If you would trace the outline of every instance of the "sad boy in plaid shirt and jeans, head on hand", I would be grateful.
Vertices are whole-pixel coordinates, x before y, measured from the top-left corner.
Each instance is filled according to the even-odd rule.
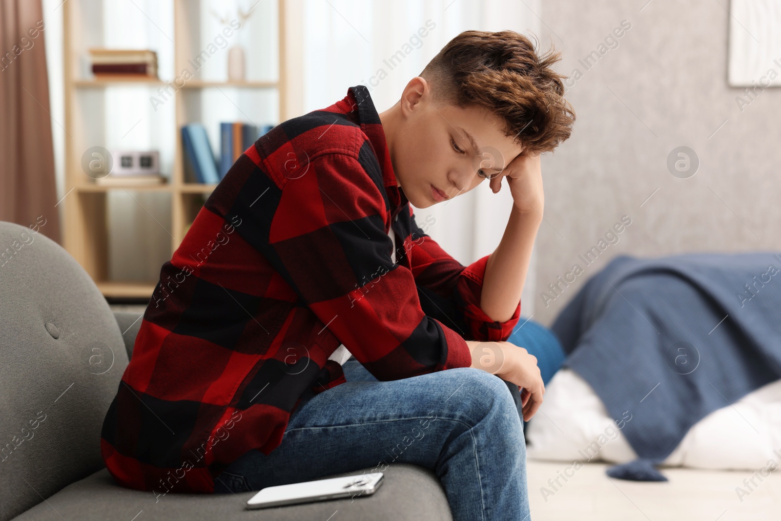
[[[455,519],[527,519],[519,409],[544,385],[506,340],[539,154],[574,121],[557,60],[465,31],[390,109],[357,85],[248,148],[162,266],[102,430],[119,484],[159,498],[412,462]],[[416,223],[412,206],[502,178],[514,205],[492,254],[462,266]],[[350,355],[378,381],[346,381]]]

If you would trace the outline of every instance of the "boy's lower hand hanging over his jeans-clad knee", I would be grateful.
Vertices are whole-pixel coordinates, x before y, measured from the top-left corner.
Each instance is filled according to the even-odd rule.
[[[537,357],[511,342],[466,341],[472,352],[472,365],[522,387],[521,405],[524,421],[529,421],[542,405],[545,385],[542,383]]]

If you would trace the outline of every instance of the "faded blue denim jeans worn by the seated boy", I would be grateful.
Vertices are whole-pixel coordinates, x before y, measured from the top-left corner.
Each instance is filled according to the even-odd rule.
[[[530,519],[513,384],[468,367],[380,382],[355,359],[345,362],[344,374],[345,384],[299,405],[269,455],[253,449],[231,463],[215,492],[403,462],[433,470],[456,521]]]

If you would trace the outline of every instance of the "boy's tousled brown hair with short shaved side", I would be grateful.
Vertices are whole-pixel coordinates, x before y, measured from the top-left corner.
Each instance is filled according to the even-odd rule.
[[[431,82],[435,102],[484,107],[505,121],[502,131],[524,152],[552,152],[575,123],[564,99],[565,76],[551,69],[560,58],[552,47],[538,55],[530,39],[513,30],[465,30],[420,76]]]

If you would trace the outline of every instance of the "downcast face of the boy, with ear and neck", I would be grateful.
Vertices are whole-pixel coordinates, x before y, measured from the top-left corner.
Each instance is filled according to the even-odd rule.
[[[499,116],[487,109],[432,102],[430,84],[415,77],[401,102],[381,114],[398,184],[415,208],[472,190],[486,180],[479,170],[483,176],[501,175],[521,152],[501,132]]]

